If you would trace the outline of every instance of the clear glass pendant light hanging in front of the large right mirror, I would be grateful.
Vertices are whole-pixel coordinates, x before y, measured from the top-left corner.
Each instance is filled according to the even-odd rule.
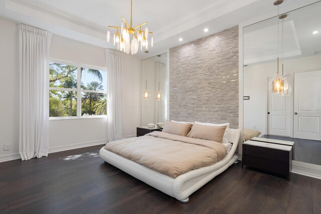
[[[283,3],[283,0],[277,0],[274,2],[274,5],[277,6],[277,16],[279,16],[279,5]],[[285,16],[286,17],[286,16]],[[285,18],[283,17],[283,18]],[[279,18],[279,19],[283,19]],[[282,26],[283,28],[283,26]],[[269,83],[269,91],[275,94],[282,95],[283,92],[288,91],[288,82],[282,76],[279,76],[279,22],[277,21],[277,72],[276,76]],[[283,45],[283,44],[282,44]],[[282,51],[283,54],[283,51]],[[282,58],[283,60],[283,58]]]

